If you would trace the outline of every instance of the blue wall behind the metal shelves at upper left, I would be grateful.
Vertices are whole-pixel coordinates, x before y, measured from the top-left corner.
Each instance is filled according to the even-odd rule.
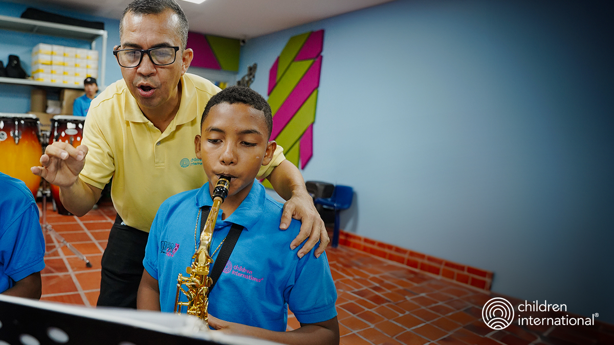
[[[52,6],[28,6],[25,4],[14,4],[10,2],[0,2],[0,15],[7,15],[10,17],[20,17],[21,13],[28,7],[35,7],[36,9],[46,10],[55,14],[66,15],[68,17],[79,18],[82,20],[90,21],[103,21],[104,29],[107,30],[107,56],[106,56],[106,83],[107,85],[122,78],[122,72],[115,61],[113,56],[113,46],[119,44],[119,20],[93,17],[91,15],[82,14],[79,12],[72,12],[60,7]],[[21,66],[31,75],[31,53],[34,45],[39,43],[47,44],[59,44],[69,47],[78,48],[91,48],[90,42],[66,39],[63,37],[46,36],[46,35],[34,35],[20,33],[17,31],[0,30],[0,60],[4,62],[6,66],[9,60],[9,55],[17,55],[20,57]],[[100,52],[102,39],[96,40],[96,49]],[[101,61],[101,60],[99,60]],[[102,86],[102,85],[99,85]],[[0,112],[15,112],[25,113],[30,110],[30,91],[32,87],[1,84],[0,83]],[[48,98],[53,99],[57,97],[57,94],[48,93]]]

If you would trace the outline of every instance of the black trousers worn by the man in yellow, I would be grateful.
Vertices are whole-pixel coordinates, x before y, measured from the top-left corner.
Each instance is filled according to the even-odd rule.
[[[101,262],[98,306],[136,309],[136,293],[143,275],[143,258],[149,234],[122,225],[119,215],[109,233]]]

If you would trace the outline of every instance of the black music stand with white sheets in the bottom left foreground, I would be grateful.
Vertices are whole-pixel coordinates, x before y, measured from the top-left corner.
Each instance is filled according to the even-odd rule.
[[[0,343],[273,345],[209,331],[193,316],[120,308],[86,308],[0,295]]]

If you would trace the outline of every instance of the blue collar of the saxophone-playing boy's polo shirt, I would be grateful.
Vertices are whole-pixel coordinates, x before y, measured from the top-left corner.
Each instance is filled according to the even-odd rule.
[[[241,202],[239,207],[233,212],[230,217],[225,220],[222,220],[222,210],[224,209],[224,204],[220,207],[220,212],[217,214],[216,225],[221,223],[235,223],[238,225],[243,225],[244,230],[249,230],[254,227],[255,223],[260,220],[260,216],[262,216],[262,205],[265,203],[265,187],[260,184],[258,181],[254,180],[254,184],[252,185],[252,189],[247,194],[246,198]],[[213,206],[213,200],[211,199],[211,195],[209,194],[209,182],[200,187],[198,193],[196,193],[196,207],[200,208],[203,206]],[[206,215],[205,215],[206,217]],[[217,226],[216,226],[217,228]]]

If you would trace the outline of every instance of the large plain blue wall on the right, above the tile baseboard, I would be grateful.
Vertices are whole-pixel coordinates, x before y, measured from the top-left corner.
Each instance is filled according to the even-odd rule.
[[[266,95],[287,40],[324,29],[303,176],[355,188],[342,228],[614,322],[612,18],[598,2],[400,0],[251,39],[238,76],[257,63]]]

